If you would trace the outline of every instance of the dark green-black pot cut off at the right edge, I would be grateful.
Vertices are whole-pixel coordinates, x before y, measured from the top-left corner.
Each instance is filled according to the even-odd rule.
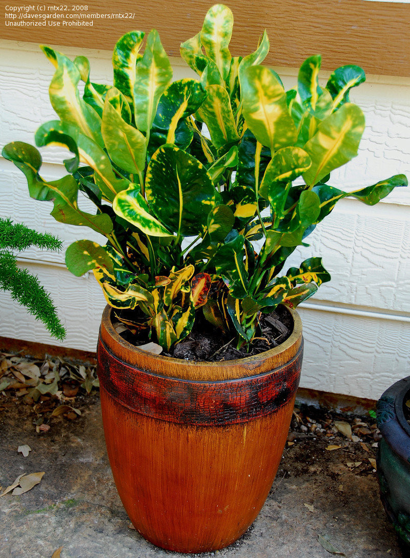
[[[410,550],[410,426],[405,406],[410,376],[389,387],[377,402],[377,425],[382,433],[377,474],[384,509],[399,537]]]

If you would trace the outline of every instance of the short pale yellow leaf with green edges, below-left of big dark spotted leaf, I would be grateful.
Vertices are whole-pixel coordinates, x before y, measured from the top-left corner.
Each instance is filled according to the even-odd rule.
[[[149,205],[137,184],[130,184],[115,196],[113,209],[119,216],[152,237],[169,237],[172,233],[150,213]]]

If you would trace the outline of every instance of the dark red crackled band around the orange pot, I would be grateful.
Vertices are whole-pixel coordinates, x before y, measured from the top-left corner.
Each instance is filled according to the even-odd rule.
[[[116,357],[99,340],[100,385],[141,415],[196,425],[248,422],[286,405],[299,385],[303,341],[287,364],[258,376],[218,382],[190,381],[138,369]]]

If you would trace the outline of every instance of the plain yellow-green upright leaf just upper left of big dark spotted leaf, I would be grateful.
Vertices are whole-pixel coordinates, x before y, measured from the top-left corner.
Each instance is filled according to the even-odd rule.
[[[123,120],[120,92],[115,87],[105,97],[101,132],[111,160],[124,171],[142,176],[146,157],[145,137]]]

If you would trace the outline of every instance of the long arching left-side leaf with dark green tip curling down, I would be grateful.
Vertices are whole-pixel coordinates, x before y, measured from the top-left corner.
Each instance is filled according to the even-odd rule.
[[[60,141],[56,134],[61,134]],[[113,172],[109,157],[105,151],[93,140],[80,133],[76,126],[59,121],[46,122],[36,132],[36,145],[61,145],[64,137],[73,138],[78,148],[80,160],[94,169],[95,184],[99,187],[105,199],[112,201],[118,192],[128,187],[129,181],[118,179]]]

